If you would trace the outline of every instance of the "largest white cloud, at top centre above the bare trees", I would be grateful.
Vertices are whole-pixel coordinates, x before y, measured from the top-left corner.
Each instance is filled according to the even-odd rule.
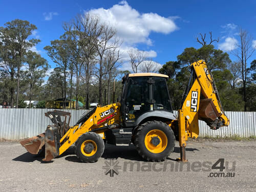
[[[167,18],[157,13],[139,13],[126,1],[109,9],[99,8],[88,11],[98,14],[103,22],[116,27],[117,35],[126,45],[143,43],[152,45],[151,32],[168,34],[178,29],[174,18]]]

